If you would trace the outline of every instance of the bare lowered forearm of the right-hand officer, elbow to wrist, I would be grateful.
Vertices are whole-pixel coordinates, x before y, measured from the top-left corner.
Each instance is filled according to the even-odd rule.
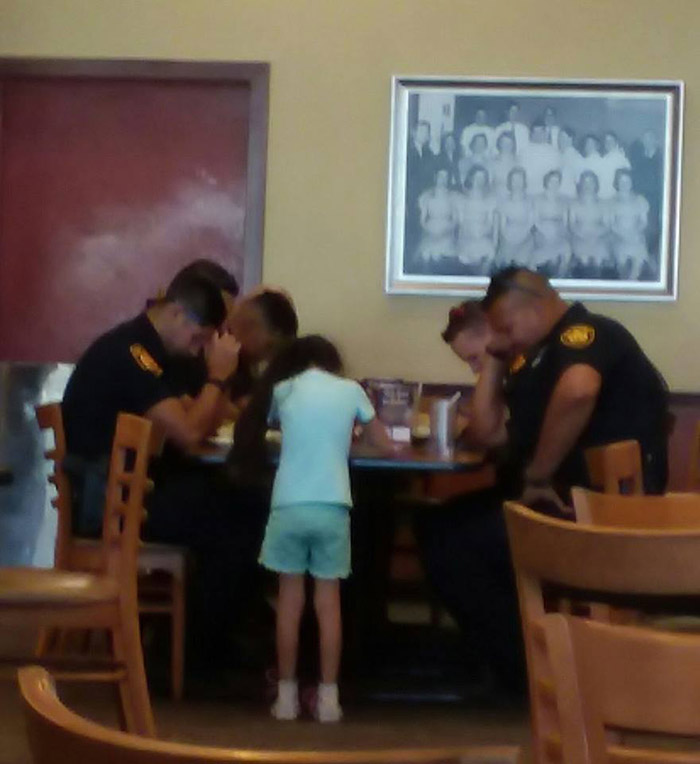
[[[576,445],[595,408],[594,395],[552,398],[532,461],[525,470],[526,481],[548,482]]]

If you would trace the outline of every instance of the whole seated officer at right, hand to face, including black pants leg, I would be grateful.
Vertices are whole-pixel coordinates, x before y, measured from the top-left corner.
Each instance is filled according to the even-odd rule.
[[[497,485],[426,513],[420,535],[438,594],[496,682],[522,690],[503,500],[570,517],[569,489],[588,483],[584,450],[626,439],[641,444],[646,489],[662,492],[667,391],[624,327],[581,304],[569,306],[539,274],[521,268],[496,274],[482,310],[481,320],[468,311],[468,325],[451,321],[445,339],[462,357],[469,339],[470,352],[483,354],[468,431],[472,443],[503,449]],[[458,325],[467,336],[455,344]]]

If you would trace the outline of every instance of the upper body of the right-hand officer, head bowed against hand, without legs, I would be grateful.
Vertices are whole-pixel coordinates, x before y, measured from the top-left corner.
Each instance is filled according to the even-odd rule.
[[[640,443],[645,489],[663,492],[667,387],[634,337],[522,268],[496,274],[482,307],[494,336],[473,434],[507,444],[521,500],[565,511],[568,489],[588,485],[585,449],[628,439]]]

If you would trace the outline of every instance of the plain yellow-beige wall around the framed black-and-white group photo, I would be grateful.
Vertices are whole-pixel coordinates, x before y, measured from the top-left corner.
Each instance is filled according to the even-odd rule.
[[[0,0],[0,55],[272,64],[264,277],[357,375],[468,379],[449,298],[383,293],[392,74],[686,82],[680,299],[596,304],[700,389],[700,0]]]

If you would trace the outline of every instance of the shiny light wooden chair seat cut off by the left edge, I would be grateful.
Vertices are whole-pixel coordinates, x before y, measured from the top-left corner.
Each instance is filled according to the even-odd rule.
[[[117,582],[52,568],[0,568],[0,606],[74,607],[116,601]]]

